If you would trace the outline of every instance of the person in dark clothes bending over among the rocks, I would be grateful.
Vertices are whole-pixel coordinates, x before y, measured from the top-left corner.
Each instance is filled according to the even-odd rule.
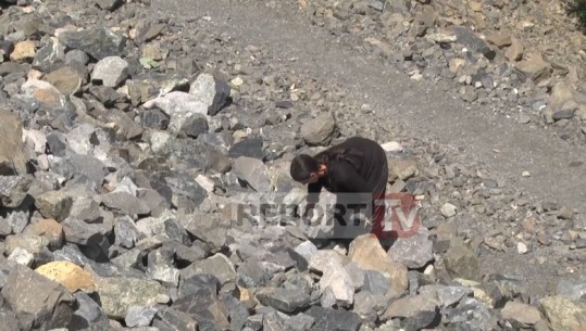
[[[322,189],[338,196],[352,196],[349,193],[358,193],[360,196],[370,198],[372,211],[370,232],[378,239],[382,238],[385,205],[377,204],[376,200],[384,201],[388,181],[388,163],[385,150],[376,141],[352,137],[314,156],[297,155],[290,164],[290,176],[294,180],[308,184],[308,206],[303,217],[307,217],[308,213],[314,208]],[[353,199],[350,198],[350,200]],[[350,203],[345,206],[348,211]],[[367,231],[367,225],[363,225],[364,230]],[[351,240],[352,238],[344,239]]]

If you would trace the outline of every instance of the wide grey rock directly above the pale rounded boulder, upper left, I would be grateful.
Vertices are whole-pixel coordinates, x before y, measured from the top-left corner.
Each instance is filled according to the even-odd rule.
[[[126,37],[105,26],[65,30],[60,33],[58,38],[67,48],[84,51],[98,61],[119,55],[126,42]]]

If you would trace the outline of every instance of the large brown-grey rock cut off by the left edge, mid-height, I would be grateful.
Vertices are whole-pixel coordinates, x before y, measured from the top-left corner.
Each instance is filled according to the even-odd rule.
[[[16,114],[0,106],[0,175],[25,175],[28,161],[22,140],[23,125]]]

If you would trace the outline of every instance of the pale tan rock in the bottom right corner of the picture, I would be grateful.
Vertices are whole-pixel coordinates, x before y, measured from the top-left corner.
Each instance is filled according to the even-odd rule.
[[[551,330],[573,331],[586,324],[586,304],[564,296],[546,296],[539,308]]]

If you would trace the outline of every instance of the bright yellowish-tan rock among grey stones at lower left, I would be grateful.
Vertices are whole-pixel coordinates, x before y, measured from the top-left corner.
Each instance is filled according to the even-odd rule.
[[[91,291],[93,289],[91,273],[68,260],[51,262],[39,266],[35,271],[59,282],[72,293],[77,290]]]

